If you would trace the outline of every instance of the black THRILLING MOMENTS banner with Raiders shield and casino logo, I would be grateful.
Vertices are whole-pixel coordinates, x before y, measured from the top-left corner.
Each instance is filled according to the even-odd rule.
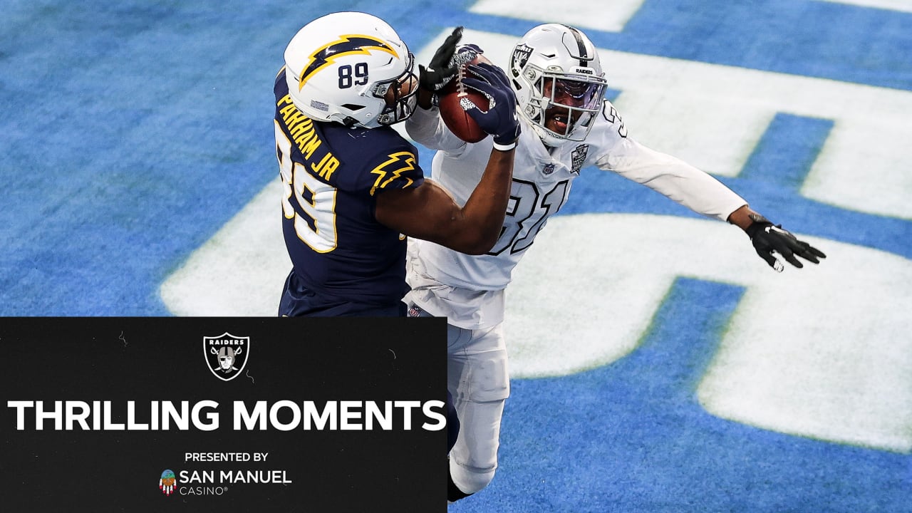
[[[445,319],[3,318],[4,511],[445,511]]]

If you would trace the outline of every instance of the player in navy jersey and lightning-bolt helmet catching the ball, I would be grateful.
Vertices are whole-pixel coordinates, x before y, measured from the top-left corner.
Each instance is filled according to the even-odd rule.
[[[494,144],[463,206],[425,179],[414,145],[390,128],[409,118],[420,87],[440,89],[455,75],[449,63],[460,38],[461,27],[420,77],[409,48],[376,16],[323,16],[289,42],[275,79],[275,149],[293,264],[279,315],[405,316],[407,236],[473,255],[497,240],[519,136],[503,71],[472,67],[464,80],[494,100],[487,112],[468,110]]]

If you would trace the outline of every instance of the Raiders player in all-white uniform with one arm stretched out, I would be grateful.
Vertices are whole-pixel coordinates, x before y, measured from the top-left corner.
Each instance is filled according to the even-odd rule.
[[[460,51],[457,58],[469,60],[481,50],[468,45]],[[514,47],[507,75],[523,130],[502,235],[482,256],[420,240],[409,244],[411,291],[403,299],[409,315],[449,319],[449,390],[461,421],[450,453],[450,501],[481,490],[494,476],[503,403],[510,393],[504,289],[548,216],[565,204],[582,168],[618,173],[697,213],[740,226],[757,254],[776,270],[782,270],[782,263],[775,254],[795,267],[802,267],[796,256],[815,264],[825,257],[752,211],[709,174],[628,137],[617,110],[603,99],[607,81],[596,47],[578,29],[534,27]],[[406,130],[438,151],[431,174],[461,204],[481,178],[492,141],[458,139],[433,107],[430,89],[420,90],[419,105]]]

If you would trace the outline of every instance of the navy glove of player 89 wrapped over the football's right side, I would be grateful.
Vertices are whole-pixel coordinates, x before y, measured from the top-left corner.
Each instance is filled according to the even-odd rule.
[[[471,99],[462,98],[462,110],[468,112],[483,131],[493,136],[494,144],[513,145],[519,139],[520,131],[516,118],[516,94],[503,69],[486,62],[470,64],[467,69],[472,77],[467,76],[462,83],[467,88],[480,91],[490,105],[487,111],[482,111]]]

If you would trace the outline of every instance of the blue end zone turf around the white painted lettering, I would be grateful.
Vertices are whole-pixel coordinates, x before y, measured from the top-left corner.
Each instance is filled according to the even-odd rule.
[[[456,24],[512,37],[535,25],[470,12],[471,5],[6,1],[0,315],[171,315],[159,296],[162,281],[277,176],[271,87],[295,31],[332,10],[363,10],[387,19],[419,50]],[[912,94],[909,12],[817,0],[646,0],[623,30],[586,33],[598,47],[630,54]],[[865,106],[846,105],[855,108]],[[834,120],[777,112],[741,172],[720,179],[769,205],[765,212],[793,231],[875,248],[908,267],[909,215],[802,193],[839,128]],[[430,153],[421,159],[430,162]],[[908,174],[907,162],[857,173],[872,180]],[[912,197],[912,188],[893,192]],[[600,173],[576,181],[561,215],[584,213],[689,216]],[[756,258],[748,246],[743,257]],[[912,511],[907,450],[761,430],[708,414],[695,401],[742,293],[679,278],[627,358],[570,376],[515,380],[502,470],[489,489],[451,510]],[[912,368],[896,375],[897,387],[912,389]],[[906,439],[910,410],[905,404],[897,413],[910,419]]]

